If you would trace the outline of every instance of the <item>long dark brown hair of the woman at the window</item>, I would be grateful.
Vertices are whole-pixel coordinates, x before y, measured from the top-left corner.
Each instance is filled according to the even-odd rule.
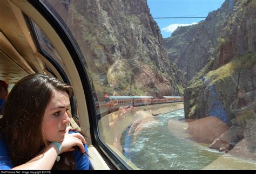
[[[19,80],[4,105],[0,133],[5,141],[12,164],[28,162],[48,146],[42,122],[53,91],[64,91],[71,98],[70,85],[44,74],[31,74]],[[72,152],[65,152],[52,169],[75,169]]]

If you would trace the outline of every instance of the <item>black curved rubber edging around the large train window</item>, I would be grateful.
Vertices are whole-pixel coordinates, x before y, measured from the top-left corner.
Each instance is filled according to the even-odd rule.
[[[132,169],[124,160],[119,157],[116,152],[108,148],[98,135],[98,125],[97,125],[97,114],[95,101],[93,100],[92,89],[88,75],[86,73],[85,66],[83,65],[82,54],[77,47],[76,40],[64,29],[62,23],[59,22],[59,19],[53,15],[49,9],[39,1],[28,0],[28,2],[47,20],[47,22],[52,26],[52,28],[57,32],[60,39],[63,41],[66,49],[69,51],[71,58],[77,68],[80,80],[83,86],[83,92],[85,95],[87,112],[89,114],[90,122],[90,134],[92,145],[97,149],[99,154],[103,157],[106,164],[110,169],[116,170],[127,170]]]

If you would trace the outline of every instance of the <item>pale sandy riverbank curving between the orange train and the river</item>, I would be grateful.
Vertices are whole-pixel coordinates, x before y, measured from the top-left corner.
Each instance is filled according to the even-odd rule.
[[[110,144],[120,152],[123,152],[120,145],[120,138],[123,132],[131,126],[134,121],[143,117],[143,115],[136,114],[137,111],[146,110],[152,115],[159,115],[183,108],[183,102],[176,102],[118,110],[117,112],[103,116],[99,120],[98,125],[100,137],[103,138],[106,144]]]

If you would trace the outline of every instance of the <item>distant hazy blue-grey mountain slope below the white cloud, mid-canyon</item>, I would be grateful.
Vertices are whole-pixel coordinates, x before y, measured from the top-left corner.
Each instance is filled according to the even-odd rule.
[[[196,25],[178,27],[170,38],[164,39],[169,59],[184,73],[186,82],[205,66],[212,55],[218,38],[213,31],[220,31],[221,27],[215,29],[214,21],[205,20]]]

